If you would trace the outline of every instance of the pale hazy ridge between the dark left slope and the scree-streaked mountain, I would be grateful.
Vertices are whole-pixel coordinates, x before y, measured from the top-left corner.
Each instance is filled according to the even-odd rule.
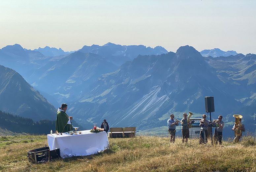
[[[117,66],[97,54],[77,51],[35,69],[28,82],[39,90],[55,94],[62,101],[63,98],[75,99],[81,92],[89,91],[88,83],[116,69]]]

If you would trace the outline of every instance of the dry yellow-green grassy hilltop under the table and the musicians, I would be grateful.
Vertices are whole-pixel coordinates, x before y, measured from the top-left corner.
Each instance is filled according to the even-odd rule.
[[[27,151],[47,144],[45,135],[0,137],[0,171],[256,171],[256,142],[199,145],[175,144],[168,137],[110,138],[110,150],[97,155],[32,164]]]

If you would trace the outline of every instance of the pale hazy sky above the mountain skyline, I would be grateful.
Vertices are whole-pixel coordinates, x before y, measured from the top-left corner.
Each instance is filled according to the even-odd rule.
[[[31,0],[0,2],[0,48],[182,45],[256,54],[255,0]]]

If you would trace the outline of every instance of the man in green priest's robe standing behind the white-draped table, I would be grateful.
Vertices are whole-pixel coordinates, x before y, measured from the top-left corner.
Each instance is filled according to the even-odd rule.
[[[59,133],[65,133],[72,130],[72,124],[70,120],[72,120],[73,117],[67,115],[66,113],[67,109],[68,109],[68,105],[62,104],[57,111],[55,131],[58,131]]]

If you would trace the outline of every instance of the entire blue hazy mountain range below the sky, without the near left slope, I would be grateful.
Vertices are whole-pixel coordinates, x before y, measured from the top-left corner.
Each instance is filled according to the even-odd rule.
[[[214,96],[214,119],[223,115],[228,127],[232,115],[240,113],[255,130],[254,54],[198,52],[188,45],[174,53],[160,46],[112,43],[54,57],[42,53],[7,46],[0,50],[0,64],[20,71],[55,107],[67,103],[68,114],[85,127],[103,119],[111,127],[162,127],[170,113],[181,118],[192,111],[193,117],[201,117],[204,97]]]

